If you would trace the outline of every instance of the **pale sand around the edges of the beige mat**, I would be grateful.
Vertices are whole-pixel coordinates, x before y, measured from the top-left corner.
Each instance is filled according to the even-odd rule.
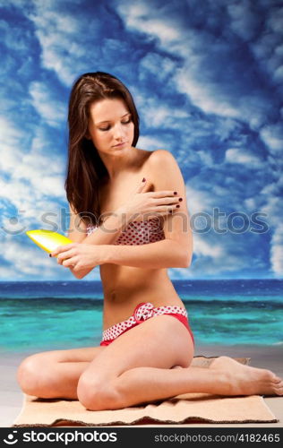
[[[23,395],[16,381],[17,366],[21,360],[31,353],[12,353],[0,352],[0,426],[10,427],[13,420],[18,416],[22,406]],[[272,347],[261,346],[201,346],[196,347],[195,356],[214,357],[227,355],[234,358],[251,358],[250,366],[269,368],[277,375],[283,377],[283,345]],[[230,424],[230,425],[213,425],[213,424],[189,424],[183,426],[193,427],[283,427],[283,397],[270,397],[264,399],[275,417],[279,419],[277,423],[264,424]],[[175,425],[159,425],[159,426],[175,426]]]

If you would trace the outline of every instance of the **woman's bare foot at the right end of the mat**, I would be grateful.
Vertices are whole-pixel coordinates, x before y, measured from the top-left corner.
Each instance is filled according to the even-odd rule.
[[[283,380],[270,370],[244,366],[228,357],[214,359],[210,369],[227,373],[227,393],[225,394],[283,396]]]

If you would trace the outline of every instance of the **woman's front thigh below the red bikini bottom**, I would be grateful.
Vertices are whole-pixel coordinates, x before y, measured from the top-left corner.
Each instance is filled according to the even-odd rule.
[[[158,315],[124,332],[90,363],[84,375],[116,377],[134,367],[188,367],[193,359],[190,333],[175,317]]]

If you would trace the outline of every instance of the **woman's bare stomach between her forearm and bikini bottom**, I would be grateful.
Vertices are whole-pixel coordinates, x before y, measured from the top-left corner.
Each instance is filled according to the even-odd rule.
[[[102,264],[100,275],[104,292],[103,330],[128,319],[141,302],[184,306],[166,269]]]

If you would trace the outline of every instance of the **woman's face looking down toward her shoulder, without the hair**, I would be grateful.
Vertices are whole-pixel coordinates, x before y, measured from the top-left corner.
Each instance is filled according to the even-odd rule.
[[[101,99],[90,105],[90,138],[98,151],[119,155],[132,147],[134,125],[123,99]]]

